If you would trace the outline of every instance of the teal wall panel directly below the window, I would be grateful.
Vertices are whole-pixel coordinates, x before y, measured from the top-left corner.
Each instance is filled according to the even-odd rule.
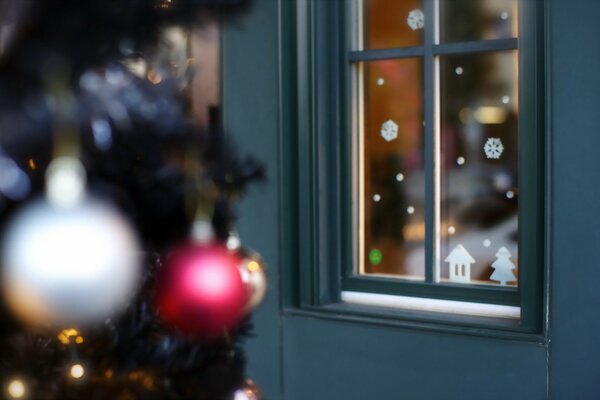
[[[544,399],[542,345],[284,318],[286,400]]]

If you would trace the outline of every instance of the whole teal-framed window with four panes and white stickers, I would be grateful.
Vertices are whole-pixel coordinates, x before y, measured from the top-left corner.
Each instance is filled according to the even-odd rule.
[[[300,306],[408,305],[539,332],[541,7],[298,2],[297,113],[283,120],[298,138],[283,145],[300,177],[284,196],[298,195]]]

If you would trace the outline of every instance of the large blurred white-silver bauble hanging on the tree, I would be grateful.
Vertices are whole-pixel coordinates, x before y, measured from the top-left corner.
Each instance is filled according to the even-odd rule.
[[[124,308],[139,280],[130,225],[84,191],[72,158],[47,170],[46,198],[14,216],[2,244],[2,292],[8,307],[34,326],[100,322]]]

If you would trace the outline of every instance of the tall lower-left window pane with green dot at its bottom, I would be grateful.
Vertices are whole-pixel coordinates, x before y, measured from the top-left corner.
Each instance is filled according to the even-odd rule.
[[[423,61],[361,64],[363,268],[424,276]]]

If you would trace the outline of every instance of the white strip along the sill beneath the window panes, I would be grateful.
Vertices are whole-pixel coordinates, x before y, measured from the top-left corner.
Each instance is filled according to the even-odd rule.
[[[498,304],[471,303],[468,301],[427,299],[422,297],[389,294],[342,292],[344,303],[391,307],[412,311],[430,311],[447,314],[474,315],[492,318],[521,318],[521,308]]]

